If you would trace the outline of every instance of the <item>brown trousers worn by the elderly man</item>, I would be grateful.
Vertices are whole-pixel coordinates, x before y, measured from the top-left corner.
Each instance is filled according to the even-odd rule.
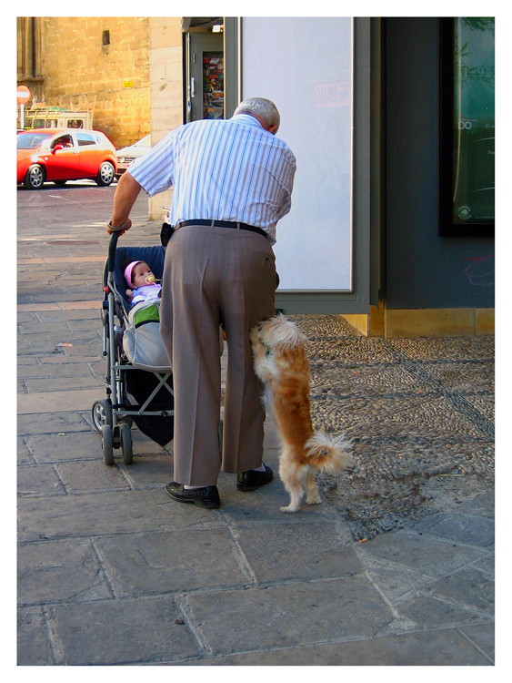
[[[249,330],[275,314],[276,260],[270,241],[247,230],[186,226],[166,248],[160,331],[173,368],[174,479],[216,484],[262,462],[263,384],[253,370]],[[222,461],[219,326],[227,376]]]

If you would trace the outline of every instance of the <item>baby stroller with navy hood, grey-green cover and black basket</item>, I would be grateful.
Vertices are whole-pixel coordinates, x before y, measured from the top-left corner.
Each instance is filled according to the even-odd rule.
[[[92,418],[101,434],[103,461],[114,463],[121,448],[123,462],[133,462],[133,423],[165,446],[174,436],[172,370],[159,332],[159,300],[130,306],[121,265],[144,260],[156,279],[162,278],[165,250],[158,247],[117,247],[113,233],[104,270],[102,305],[106,398],[95,401]],[[115,320],[118,324],[115,324]]]

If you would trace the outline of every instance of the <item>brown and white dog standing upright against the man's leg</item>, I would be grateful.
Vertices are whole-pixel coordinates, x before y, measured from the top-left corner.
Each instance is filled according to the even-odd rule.
[[[315,474],[338,474],[355,465],[352,442],[313,430],[309,403],[306,336],[295,322],[279,314],[250,331],[256,375],[264,382],[266,409],[281,438],[279,476],[290,494],[281,512],[296,513],[306,490],[306,503],[321,503]]]

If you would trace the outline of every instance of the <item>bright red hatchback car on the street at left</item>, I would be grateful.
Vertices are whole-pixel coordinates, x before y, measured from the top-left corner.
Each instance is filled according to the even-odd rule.
[[[17,182],[39,189],[46,180],[64,185],[66,180],[92,178],[110,185],[117,170],[115,147],[98,130],[41,128],[16,136]]]

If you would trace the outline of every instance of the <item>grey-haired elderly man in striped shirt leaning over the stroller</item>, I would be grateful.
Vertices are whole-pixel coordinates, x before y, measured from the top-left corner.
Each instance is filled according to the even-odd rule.
[[[291,207],[296,159],[276,138],[274,103],[255,97],[230,119],[177,127],[119,180],[107,232],[131,227],[140,189],[174,188],[160,331],[175,389],[176,501],[219,507],[219,469],[239,491],[268,484],[263,385],[249,330],[275,313],[276,223]],[[222,454],[219,326],[228,348]]]

